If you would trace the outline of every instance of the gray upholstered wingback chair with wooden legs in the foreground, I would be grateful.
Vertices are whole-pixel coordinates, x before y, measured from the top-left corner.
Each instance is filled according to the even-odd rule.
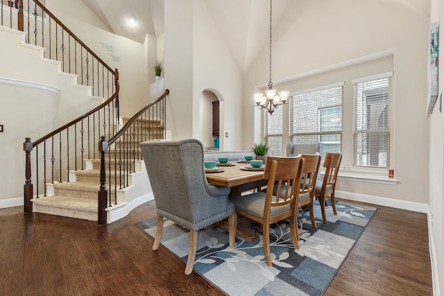
[[[140,143],[157,207],[153,250],[162,238],[163,217],[190,230],[185,274],[193,271],[198,231],[229,217],[230,247],[236,238],[237,214],[229,188],[210,185],[203,166],[203,146],[196,139]]]

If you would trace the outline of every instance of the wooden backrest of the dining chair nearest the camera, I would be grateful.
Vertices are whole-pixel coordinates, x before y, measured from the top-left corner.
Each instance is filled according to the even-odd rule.
[[[300,182],[300,176],[305,160],[302,157],[266,157],[264,179],[268,180],[266,189],[266,205],[278,207],[292,202],[299,192],[291,183]],[[273,189],[277,186],[276,195]],[[268,207],[268,210],[270,207]],[[265,211],[267,207],[265,207]],[[265,215],[264,215],[265,216]]]

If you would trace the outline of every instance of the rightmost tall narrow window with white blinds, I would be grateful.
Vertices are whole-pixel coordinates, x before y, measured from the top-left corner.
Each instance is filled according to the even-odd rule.
[[[354,165],[388,168],[391,73],[352,82],[355,87]]]

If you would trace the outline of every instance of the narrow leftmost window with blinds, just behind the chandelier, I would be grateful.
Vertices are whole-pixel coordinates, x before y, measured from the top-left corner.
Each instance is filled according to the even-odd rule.
[[[282,155],[282,109],[282,106],[278,107],[273,115],[266,113],[265,141],[270,147],[267,153],[270,156]]]

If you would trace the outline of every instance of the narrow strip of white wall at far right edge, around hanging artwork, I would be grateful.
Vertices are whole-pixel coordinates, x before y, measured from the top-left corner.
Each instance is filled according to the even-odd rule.
[[[443,26],[444,24],[444,4],[443,1],[432,0],[431,22],[438,21],[441,24],[439,32],[439,42],[444,40]],[[441,45],[441,57],[443,46]],[[438,64],[438,94],[442,94],[444,88],[444,62],[443,58]],[[425,97],[427,100],[427,96]],[[439,110],[441,99],[438,98],[436,106],[431,116],[429,116],[430,126],[430,142],[429,142],[429,237],[432,256],[432,268],[434,273],[434,295],[440,295],[440,291],[444,291],[444,116]]]

